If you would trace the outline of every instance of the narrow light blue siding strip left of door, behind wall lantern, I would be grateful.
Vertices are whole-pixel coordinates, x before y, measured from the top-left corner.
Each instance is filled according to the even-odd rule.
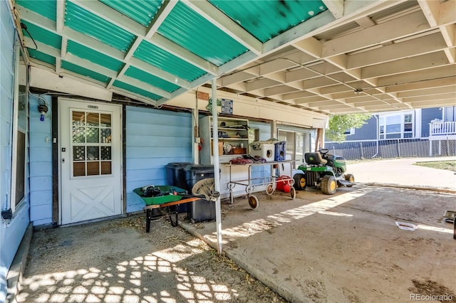
[[[52,108],[51,97],[46,100],[48,113],[40,121],[38,98],[30,102],[30,220],[33,225],[52,223]],[[46,140],[46,137],[48,140]]]

